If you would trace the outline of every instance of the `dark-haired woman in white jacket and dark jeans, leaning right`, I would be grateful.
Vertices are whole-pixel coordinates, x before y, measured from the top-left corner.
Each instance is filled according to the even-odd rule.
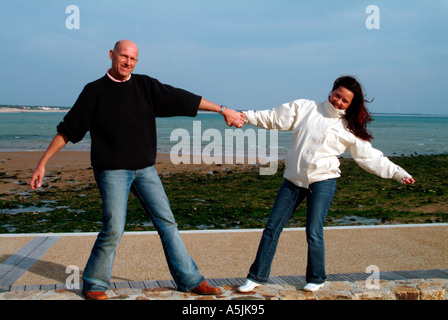
[[[337,157],[346,150],[370,173],[403,184],[415,182],[405,170],[372,148],[372,136],[366,129],[372,118],[366,102],[359,82],[343,76],[334,82],[326,102],[296,100],[273,110],[243,112],[249,124],[292,131],[292,148],[286,157],[285,179],[246,283],[238,288],[240,292],[251,291],[268,281],[280,233],[305,197],[308,259],[304,290],[316,291],[324,286],[323,224],[336,191],[336,179],[340,177]]]

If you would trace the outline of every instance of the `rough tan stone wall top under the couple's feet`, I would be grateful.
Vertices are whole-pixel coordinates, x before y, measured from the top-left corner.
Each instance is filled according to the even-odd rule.
[[[381,280],[378,289],[365,281],[328,281],[317,292],[303,291],[304,283],[295,285],[264,285],[248,293],[238,293],[238,286],[223,285],[222,295],[200,296],[174,288],[108,290],[109,299],[116,300],[448,300],[448,279]],[[9,291],[0,293],[0,300],[78,300],[79,290]]]

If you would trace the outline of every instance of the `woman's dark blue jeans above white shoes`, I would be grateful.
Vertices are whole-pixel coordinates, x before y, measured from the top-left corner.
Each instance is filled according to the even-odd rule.
[[[313,183],[309,189],[298,187],[285,179],[275,198],[255,261],[250,267],[247,278],[260,283],[268,281],[280,233],[292,213],[306,197],[306,239],[308,243],[306,282],[316,284],[325,282],[323,226],[335,192],[336,179]]]

